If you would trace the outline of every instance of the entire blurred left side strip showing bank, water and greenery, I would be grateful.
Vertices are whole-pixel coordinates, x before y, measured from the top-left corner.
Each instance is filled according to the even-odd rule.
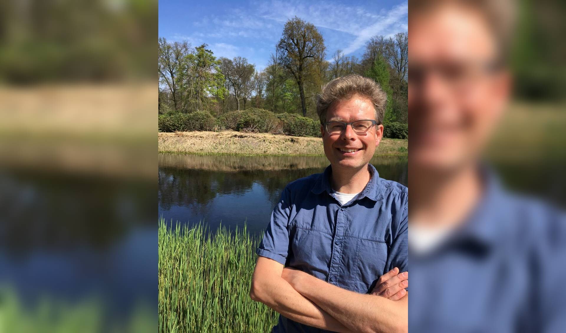
[[[0,332],[157,327],[157,2],[0,3]]]

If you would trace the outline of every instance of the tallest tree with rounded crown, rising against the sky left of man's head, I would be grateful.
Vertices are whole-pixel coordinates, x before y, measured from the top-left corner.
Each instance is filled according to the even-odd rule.
[[[301,96],[303,116],[307,114],[305,82],[316,66],[316,58],[324,54],[324,39],[312,23],[295,16],[285,23],[281,39],[277,44],[278,61],[295,79]]]

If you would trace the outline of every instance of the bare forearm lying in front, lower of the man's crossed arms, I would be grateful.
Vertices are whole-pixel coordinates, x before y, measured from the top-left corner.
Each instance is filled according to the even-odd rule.
[[[304,274],[294,288],[356,332],[408,331],[408,296],[399,301],[359,294]]]

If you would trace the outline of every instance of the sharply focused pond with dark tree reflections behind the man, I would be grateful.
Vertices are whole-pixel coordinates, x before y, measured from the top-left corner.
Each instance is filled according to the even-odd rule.
[[[407,184],[406,156],[376,156],[379,176]],[[243,227],[259,234],[289,182],[323,172],[326,157],[159,155],[159,216],[173,224]]]

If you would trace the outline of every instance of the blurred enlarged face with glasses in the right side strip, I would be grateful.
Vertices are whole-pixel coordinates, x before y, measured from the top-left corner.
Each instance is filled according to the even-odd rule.
[[[444,7],[410,18],[409,151],[421,169],[475,163],[509,93],[477,13]]]

